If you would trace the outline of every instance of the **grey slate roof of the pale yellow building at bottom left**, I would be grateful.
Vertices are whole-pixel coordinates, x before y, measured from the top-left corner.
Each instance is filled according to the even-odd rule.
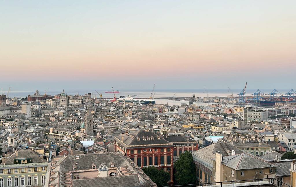
[[[12,154],[10,157],[5,160],[5,164],[14,164],[15,159],[21,159],[21,158],[33,158],[32,163],[41,163],[46,162],[46,160],[39,157],[39,154],[35,151],[32,151],[31,149],[20,149],[14,154]],[[2,162],[0,165],[4,165],[4,162]]]

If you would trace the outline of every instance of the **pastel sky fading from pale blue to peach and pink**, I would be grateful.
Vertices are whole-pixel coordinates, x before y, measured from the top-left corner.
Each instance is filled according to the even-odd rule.
[[[0,0],[0,84],[296,89],[295,8],[294,0]]]

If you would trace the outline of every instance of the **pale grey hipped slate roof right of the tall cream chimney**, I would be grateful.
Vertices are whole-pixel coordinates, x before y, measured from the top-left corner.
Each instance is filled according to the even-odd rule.
[[[216,160],[212,158],[212,160]],[[226,165],[229,168],[234,170],[248,170],[248,169],[257,169],[257,168],[269,168],[277,167],[272,163],[266,162],[262,158],[256,157],[254,155],[243,152],[238,155],[230,155],[224,157],[223,165]]]

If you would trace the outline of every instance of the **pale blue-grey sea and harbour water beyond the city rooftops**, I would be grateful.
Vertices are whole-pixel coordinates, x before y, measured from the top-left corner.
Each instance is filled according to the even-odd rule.
[[[9,92],[9,97],[26,97],[28,95],[34,95],[36,90],[13,90],[11,89]],[[106,91],[111,90],[97,90],[99,93],[102,93],[103,98],[112,98],[113,94],[107,94]],[[242,90],[229,90],[229,89],[212,89],[212,90],[203,90],[203,89],[171,89],[171,90],[162,90],[162,89],[155,89],[153,94],[155,98],[155,102],[157,104],[168,104],[168,105],[181,105],[181,103],[189,104],[189,100],[168,100],[168,99],[158,99],[160,97],[191,97],[193,94],[195,97],[207,97],[207,94],[209,97],[226,97],[229,95],[237,96],[239,92]],[[254,93],[256,90],[246,90],[246,96],[252,96],[252,93]],[[270,93],[272,90],[261,90],[263,93]],[[287,93],[289,90],[278,90],[281,93]],[[47,95],[57,95],[61,93],[62,90],[53,90],[49,89],[47,90]],[[125,96],[128,97],[129,95],[136,95],[135,97],[150,97],[152,90],[120,90],[119,94],[115,94],[116,97]],[[65,90],[65,93],[67,95],[84,95],[86,93],[91,93],[91,97],[99,97],[99,94],[95,90],[79,90],[79,89],[73,89],[73,90]],[[3,91],[3,94],[7,94],[7,91]],[[45,94],[45,90],[39,90],[40,95]],[[207,106],[210,105],[210,103],[201,103],[201,102],[195,102],[194,104],[199,106]]]

